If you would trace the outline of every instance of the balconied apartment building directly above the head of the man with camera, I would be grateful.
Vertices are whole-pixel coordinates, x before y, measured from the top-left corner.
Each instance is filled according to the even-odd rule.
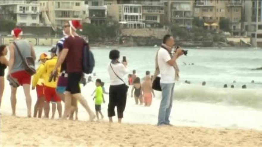
[[[170,21],[181,27],[192,28],[193,1],[171,1]]]

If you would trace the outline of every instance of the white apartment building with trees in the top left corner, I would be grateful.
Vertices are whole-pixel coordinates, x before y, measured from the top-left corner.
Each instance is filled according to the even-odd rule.
[[[15,20],[17,26],[39,26],[39,10],[37,1],[1,1],[0,18]]]

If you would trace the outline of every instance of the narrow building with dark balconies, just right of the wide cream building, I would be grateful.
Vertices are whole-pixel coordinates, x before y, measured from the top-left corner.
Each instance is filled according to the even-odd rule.
[[[113,4],[113,1],[108,1],[107,4]],[[107,18],[107,6],[103,0],[88,0],[85,1],[85,11],[86,11],[86,22],[96,25],[105,23]]]

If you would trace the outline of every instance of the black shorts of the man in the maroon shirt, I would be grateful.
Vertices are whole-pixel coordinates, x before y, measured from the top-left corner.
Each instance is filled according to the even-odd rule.
[[[68,73],[68,83],[66,86],[66,91],[71,92],[71,94],[81,93],[79,82],[82,78],[82,72],[71,72]]]

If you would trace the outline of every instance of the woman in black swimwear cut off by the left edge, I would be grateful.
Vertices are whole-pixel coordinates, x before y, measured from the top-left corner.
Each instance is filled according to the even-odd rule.
[[[8,66],[8,61],[5,58],[7,55],[7,48],[5,45],[0,46],[0,106],[2,101],[2,96],[4,93],[4,69]]]

